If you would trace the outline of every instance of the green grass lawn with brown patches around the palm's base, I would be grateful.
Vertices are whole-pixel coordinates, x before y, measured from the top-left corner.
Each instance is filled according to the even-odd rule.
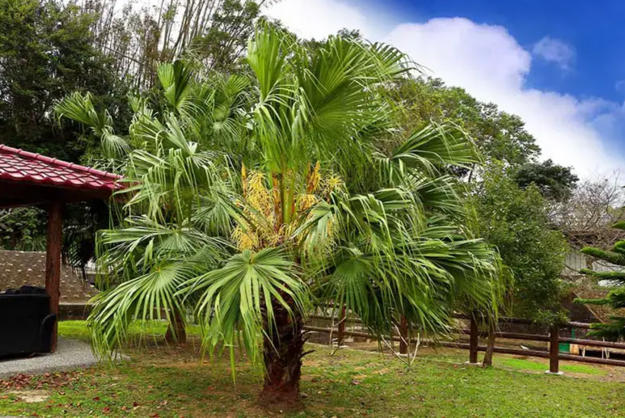
[[[164,332],[150,327],[155,335]],[[88,337],[80,322],[61,323],[59,332]],[[178,348],[148,339],[148,347],[129,348],[132,360],[114,369],[0,381],[0,416],[625,417],[625,384],[607,367],[566,362],[562,370],[569,376],[547,376],[542,360],[496,355],[497,367],[481,369],[456,364],[466,352],[451,350],[424,351],[408,369],[388,354],[343,349],[331,356],[326,346],[314,345],[304,362],[301,410],[269,411],[259,402],[261,379],[249,365],[237,364],[233,384],[229,362],[202,361],[193,341]],[[18,390],[49,397],[26,403],[9,393]]]

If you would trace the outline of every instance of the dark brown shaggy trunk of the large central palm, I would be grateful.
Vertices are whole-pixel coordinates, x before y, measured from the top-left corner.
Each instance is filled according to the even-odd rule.
[[[284,298],[287,302],[289,299]],[[266,401],[292,404],[299,401],[299,378],[304,356],[304,321],[297,307],[292,306],[292,316],[284,307],[274,304],[275,326],[265,327],[267,336],[263,344],[266,367],[262,397]]]

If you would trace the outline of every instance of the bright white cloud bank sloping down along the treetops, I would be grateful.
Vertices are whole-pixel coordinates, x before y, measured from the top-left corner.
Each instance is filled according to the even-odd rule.
[[[315,11],[315,22],[301,17],[304,4]],[[339,0],[283,0],[279,5],[279,16],[274,9],[269,9],[269,16],[280,17],[292,30],[314,31],[317,38],[342,27],[361,29],[364,34],[376,32],[371,24],[375,16],[369,19]],[[543,158],[573,166],[582,177],[625,167],[618,150],[606,148],[614,127],[625,120],[621,106],[528,88],[532,54],[506,28],[461,17],[438,18],[397,24],[387,34],[369,39],[393,44],[427,67],[432,76],[521,116],[541,146]]]

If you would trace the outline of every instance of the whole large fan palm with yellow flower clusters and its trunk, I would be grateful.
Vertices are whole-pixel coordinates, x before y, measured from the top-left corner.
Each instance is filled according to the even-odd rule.
[[[496,306],[496,254],[467,237],[444,174],[476,162],[469,139],[427,126],[383,151],[394,119],[377,91],[409,76],[401,52],[340,36],[310,49],[261,24],[247,62],[227,79],[165,64],[164,111],[133,99],[124,221],[98,239],[96,352],[134,319],[192,320],[207,352],[246,352],[264,392],[291,397],[314,306],[345,304],[377,336],[401,316],[446,329],[459,301]]]

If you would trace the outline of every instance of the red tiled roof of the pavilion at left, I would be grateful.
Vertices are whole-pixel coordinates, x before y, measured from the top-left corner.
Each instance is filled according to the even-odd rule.
[[[114,191],[121,176],[0,144],[0,179]]]

